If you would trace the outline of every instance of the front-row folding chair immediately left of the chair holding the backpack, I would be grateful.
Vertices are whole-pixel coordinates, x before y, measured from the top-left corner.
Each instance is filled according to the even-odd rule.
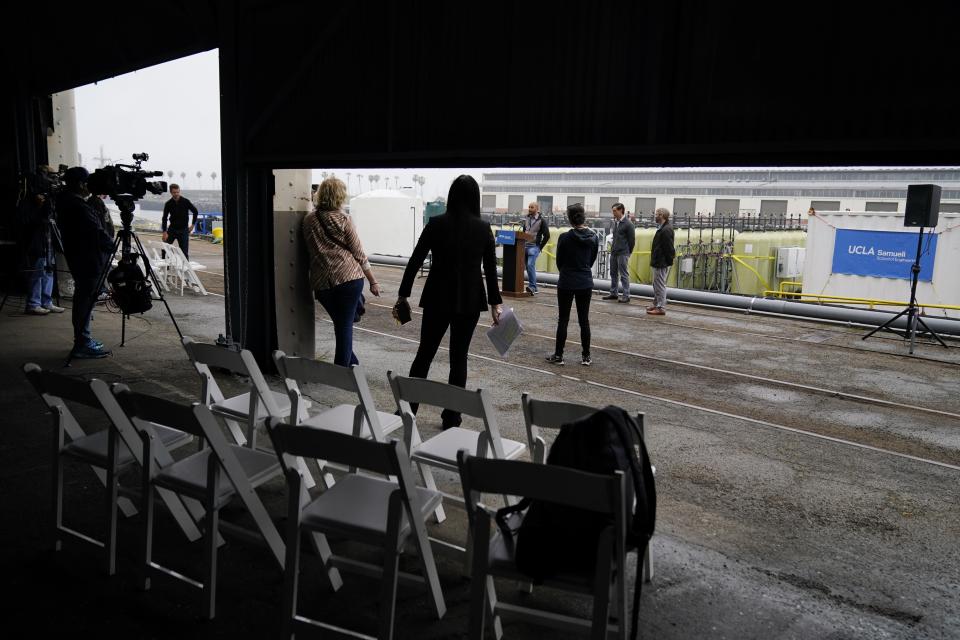
[[[425,583],[437,618],[442,618],[446,613],[446,605],[426,529],[426,520],[440,504],[441,497],[436,491],[415,486],[403,444],[396,440],[389,443],[374,442],[350,434],[283,424],[274,419],[270,421],[269,433],[274,448],[285,460],[290,500],[282,637],[290,638],[296,626],[320,627],[351,637],[371,637],[297,614],[300,535],[303,531],[336,535],[383,549],[382,567],[340,556],[333,558],[333,563],[344,570],[350,569],[380,579],[377,638],[388,640],[394,637],[397,581],[401,577],[419,584]],[[292,456],[325,458],[350,468],[386,476],[387,479],[351,473],[315,500],[304,504],[297,498],[302,492],[302,478],[300,472],[290,464]],[[399,557],[408,542],[413,543],[420,556],[420,576],[399,571]]]

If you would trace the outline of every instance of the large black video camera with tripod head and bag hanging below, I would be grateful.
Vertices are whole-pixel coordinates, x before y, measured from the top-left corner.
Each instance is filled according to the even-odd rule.
[[[120,221],[123,224],[123,228],[117,232],[120,260],[110,271],[107,281],[113,290],[113,299],[124,315],[143,313],[153,307],[151,283],[144,275],[144,272],[149,272],[149,265],[144,262],[141,271],[137,266],[137,258],[141,257],[144,261],[146,258],[142,253],[133,253],[130,245],[135,202],[148,191],[159,195],[167,190],[166,182],[147,179],[163,175],[162,171],[145,171],[141,167],[141,163],[149,159],[146,153],[135,153],[135,164],[107,165],[94,171],[87,180],[87,188],[91,193],[110,196],[120,209]]]

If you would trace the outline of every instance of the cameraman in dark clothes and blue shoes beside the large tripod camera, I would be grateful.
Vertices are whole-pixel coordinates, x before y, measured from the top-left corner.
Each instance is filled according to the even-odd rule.
[[[90,335],[90,320],[97,297],[97,282],[113,252],[113,241],[104,230],[103,217],[87,202],[90,174],[71,167],[64,174],[65,190],[57,199],[63,252],[74,279],[73,358],[103,358],[110,355],[103,343]]]

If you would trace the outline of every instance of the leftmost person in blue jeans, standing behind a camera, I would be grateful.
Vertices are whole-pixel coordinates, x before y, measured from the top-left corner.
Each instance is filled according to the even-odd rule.
[[[37,171],[35,184],[27,183],[26,194],[18,205],[22,225],[22,246],[27,274],[27,304],[25,313],[45,316],[63,313],[63,307],[53,304],[54,238],[56,216],[46,187],[53,184],[50,177],[56,172],[48,166]]]

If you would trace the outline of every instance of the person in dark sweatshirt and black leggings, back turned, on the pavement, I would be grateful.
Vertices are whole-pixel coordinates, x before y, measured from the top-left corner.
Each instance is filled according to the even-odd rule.
[[[587,229],[582,204],[567,207],[567,219],[573,227],[557,240],[557,302],[560,317],[557,320],[557,342],[547,362],[563,364],[563,348],[567,342],[567,324],[570,322],[570,306],[577,302],[577,320],[580,322],[580,364],[590,365],[590,298],[593,295],[593,263],[597,260],[600,242],[596,234]]]

